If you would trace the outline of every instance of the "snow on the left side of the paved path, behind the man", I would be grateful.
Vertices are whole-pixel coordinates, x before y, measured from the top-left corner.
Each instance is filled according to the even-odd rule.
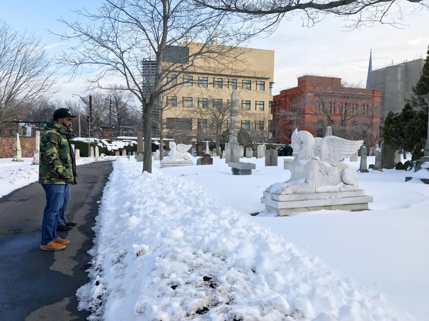
[[[76,165],[116,159],[118,156],[81,157],[76,160]],[[23,162],[12,162],[11,158],[0,158],[0,197],[39,180],[39,166],[31,165],[33,158],[23,158],[23,160]]]

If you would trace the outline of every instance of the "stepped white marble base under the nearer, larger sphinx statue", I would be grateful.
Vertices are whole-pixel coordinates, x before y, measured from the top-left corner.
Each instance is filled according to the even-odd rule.
[[[365,195],[364,190],[330,193],[289,194],[278,195],[263,192],[261,203],[267,211],[275,211],[279,216],[286,216],[292,212],[308,212],[327,210],[367,210],[368,203],[373,197]]]

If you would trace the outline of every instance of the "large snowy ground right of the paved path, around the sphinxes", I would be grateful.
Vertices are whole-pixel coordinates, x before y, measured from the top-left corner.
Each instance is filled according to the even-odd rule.
[[[358,172],[372,211],[252,217],[290,172],[245,161],[252,175],[219,158],[143,175],[114,163],[78,291],[92,320],[429,320],[428,185]]]

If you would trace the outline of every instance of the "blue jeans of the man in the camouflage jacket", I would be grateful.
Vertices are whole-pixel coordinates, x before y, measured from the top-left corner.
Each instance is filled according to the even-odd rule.
[[[66,184],[42,184],[46,194],[46,206],[43,211],[42,242],[46,245],[58,238],[58,211],[63,206]]]

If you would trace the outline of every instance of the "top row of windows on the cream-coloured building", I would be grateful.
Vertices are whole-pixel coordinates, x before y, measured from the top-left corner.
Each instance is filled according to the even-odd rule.
[[[177,84],[177,77],[171,77],[171,84],[172,85],[176,85]],[[233,88],[233,89],[237,89],[237,79],[228,79],[228,80],[224,80],[224,78],[211,78],[211,86],[216,87],[216,88],[223,88],[224,86],[226,86],[227,88]],[[168,78],[167,78],[168,81]],[[193,79],[193,76],[183,76],[183,84],[185,86],[202,86],[202,87],[208,87],[209,83],[208,83],[208,77],[198,77],[198,81],[195,79]],[[241,83],[241,88],[242,89],[247,89],[247,90],[251,90],[252,89],[252,81],[251,80],[242,80]],[[255,89],[259,90],[259,91],[265,91],[265,81],[256,81],[255,83]],[[271,89],[272,86],[269,87],[269,91],[270,91],[270,95],[271,95]]]

